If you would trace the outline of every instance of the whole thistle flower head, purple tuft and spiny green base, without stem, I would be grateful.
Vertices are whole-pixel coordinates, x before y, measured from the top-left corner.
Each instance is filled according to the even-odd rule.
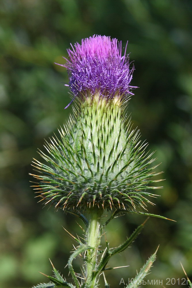
[[[35,160],[41,175],[34,185],[45,204],[65,210],[92,208],[145,209],[154,167],[153,153],[139,132],[126,125],[124,108],[132,92],[126,53],[121,43],[106,36],[93,36],[68,50],[69,86],[75,96],[73,117],[60,130],[60,139],[46,142],[47,161]]]

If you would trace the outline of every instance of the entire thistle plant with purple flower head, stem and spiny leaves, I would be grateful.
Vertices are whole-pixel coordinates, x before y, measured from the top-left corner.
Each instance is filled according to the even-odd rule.
[[[101,274],[109,287],[104,275],[109,259],[133,242],[145,222],[118,247],[110,248],[106,242],[102,248],[100,240],[107,224],[122,212],[165,218],[147,212],[147,204],[153,204],[149,199],[156,197],[153,190],[160,188],[155,182],[161,180],[153,179],[159,174],[154,172],[153,153],[146,151],[147,143],[140,140],[125,112],[137,88],[130,85],[134,66],[126,48],[122,54],[117,39],[94,35],[71,45],[66,64],[58,64],[69,74],[73,112],[59,129],[60,136],[45,143],[47,153],[40,151],[44,161],[34,160],[39,172],[31,174],[36,179],[33,188],[45,205],[79,217],[85,225],[85,238],[73,237],[77,247],[68,260],[73,283],[52,265],[54,275],[46,275],[50,282],[36,288],[95,288]],[[139,287],[155,255],[127,288]],[[83,259],[80,276],[73,268],[77,256]]]

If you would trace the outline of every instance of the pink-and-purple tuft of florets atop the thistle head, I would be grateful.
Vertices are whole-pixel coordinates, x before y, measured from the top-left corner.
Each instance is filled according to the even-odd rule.
[[[130,86],[134,67],[130,68],[129,58],[121,56],[121,42],[107,36],[94,35],[82,39],[68,49],[69,58],[65,65],[69,74],[69,87],[74,96],[92,94],[113,98],[133,95]]]

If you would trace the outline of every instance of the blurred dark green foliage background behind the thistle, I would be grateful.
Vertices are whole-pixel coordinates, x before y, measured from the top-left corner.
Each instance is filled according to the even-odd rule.
[[[132,85],[139,86],[128,113],[164,170],[161,197],[149,212],[177,222],[150,218],[138,239],[106,273],[111,288],[136,274],[160,244],[147,279],[165,287],[187,287],[182,262],[192,278],[192,1],[187,0],[1,0],[0,4],[0,287],[29,288],[46,281],[38,273],[64,269],[76,219],[42,209],[28,176],[44,139],[66,121],[71,107],[62,56],[70,43],[93,34],[129,41],[134,60]],[[146,217],[115,219],[107,230],[118,245]],[[81,224],[81,223],[80,223]],[[79,265],[79,260],[75,262]],[[176,279],[172,283],[167,278]],[[180,279],[180,280],[177,280]],[[180,281],[180,283],[179,283]],[[183,285],[181,286],[181,283]],[[103,282],[101,282],[103,287]],[[145,285],[144,287],[152,287]],[[161,287],[153,285],[153,287]]]

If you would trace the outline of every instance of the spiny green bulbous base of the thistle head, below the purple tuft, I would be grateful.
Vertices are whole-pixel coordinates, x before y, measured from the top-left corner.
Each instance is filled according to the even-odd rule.
[[[126,125],[125,105],[121,97],[99,95],[76,101],[60,139],[45,144],[48,155],[40,153],[47,164],[34,162],[40,174],[33,175],[39,180],[33,187],[45,204],[135,210],[150,202],[146,196],[154,194],[147,190],[157,188],[151,186],[153,153],[145,152],[130,121]]]

